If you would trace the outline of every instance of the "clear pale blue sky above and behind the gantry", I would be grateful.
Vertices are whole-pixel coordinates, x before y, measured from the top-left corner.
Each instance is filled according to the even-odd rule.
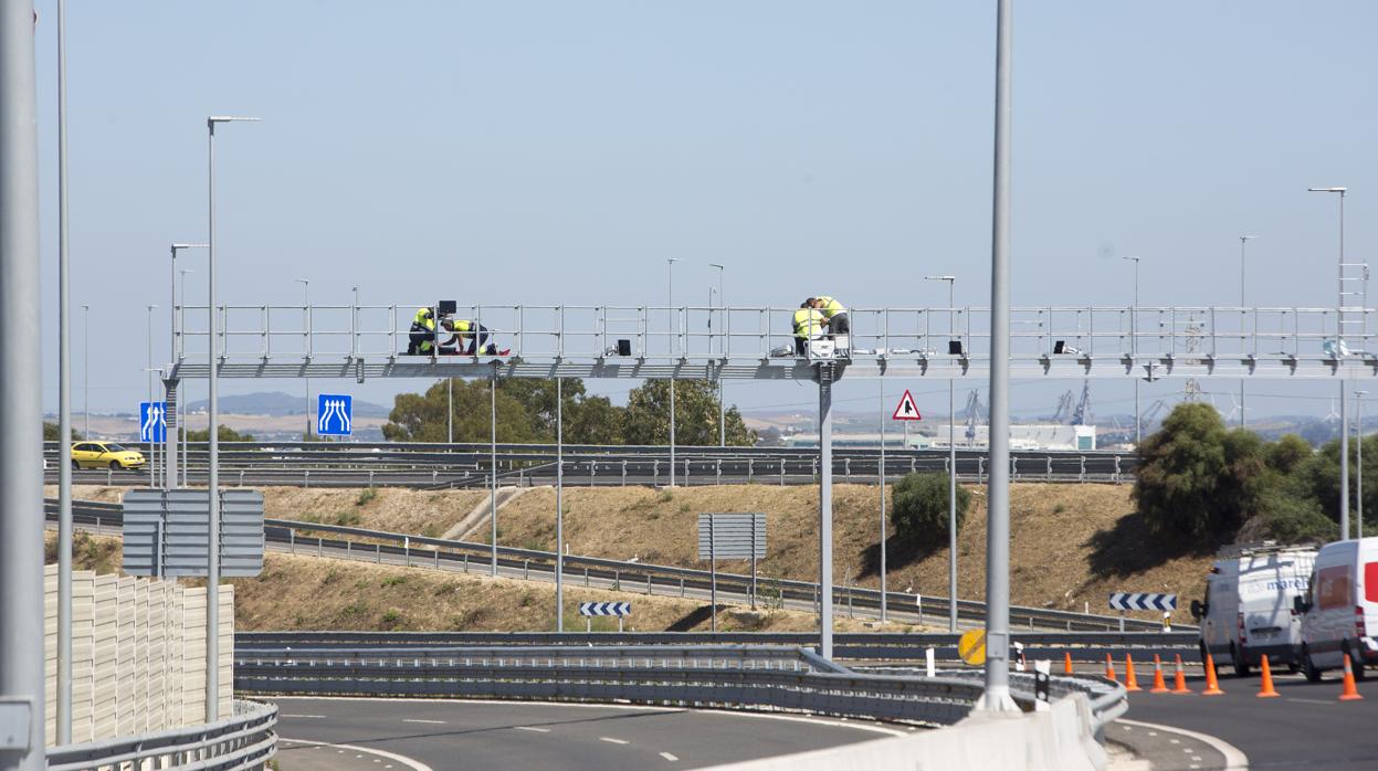
[[[1129,304],[1127,255],[1144,260],[1144,304],[1233,304],[1237,237],[1253,233],[1250,303],[1331,306],[1335,202],[1305,193],[1317,184],[1349,186],[1349,252],[1375,257],[1378,3],[1017,6],[1016,304]],[[987,304],[994,7],[72,0],[72,293],[92,306],[92,408],[145,392],[145,306],[167,313],[168,244],[205,234],[212,113],[265,118],[218,134],[232,304],[299,302],[298,277],[321,303],[356,284],[365,303],[437,285],[464,303],[661,303],[666,257],[696,300],[719,262],[730,304],[823,291],[945,304],[927,273]],[[39,3],[48,318],[55,8]],[[185,262],[197,302],[204,253]],[[74,352],[80,409],[80,311]],[[382,402],[423,386],[339,384]],[[1069,387],[1020,388],[1014,409],[1050,412]],[[1102,410],[1129,409],[1127,384],[1096,388]],[[1145,388],[1145,405],[1180,388]],[[226,384],[252,390],[300,383]],[[779,384],[729,397],[814,398]],[[1323,398],[1255,405],[1327,412]]]

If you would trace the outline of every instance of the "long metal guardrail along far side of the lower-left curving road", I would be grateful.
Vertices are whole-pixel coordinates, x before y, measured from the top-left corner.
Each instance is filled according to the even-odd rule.
[[[806,712],[949,726],[981,686],[861,675],[801,648],[456,648],[411,659],[244,659],[236,690],[634,704]],[[1029,694],[1018,694],[1031,701]]]

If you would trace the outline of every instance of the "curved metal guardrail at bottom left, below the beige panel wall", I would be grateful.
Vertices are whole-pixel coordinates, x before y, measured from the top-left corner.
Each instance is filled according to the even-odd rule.
[[[48,749],[48,771],[185,768],[248,771],[277,752],[277,706],[236,701],[234,716],[153,734]]]

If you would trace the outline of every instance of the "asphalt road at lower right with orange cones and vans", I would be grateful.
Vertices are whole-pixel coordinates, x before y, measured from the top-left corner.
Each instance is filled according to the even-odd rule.
[[[1370,670],[1371,675],[1378,672]],[[1140,686],[1146,688],[1151,677],[1140,668]],[[1341,683],[1327,672],[1320,683],[1308,683],[1301,675],[1273,676],[1279,698],[1258,698],[1258,677],[1221,677],[1221,697],[1202,697],[1204,682],[1192,676],[1188,687],[1192,695],[1149,694],[1130,695],[1126,717],[1134,721],[1184,728],[1224,739],[1248,759],[1248,768],[1308,768],[1316,771],[1360,771],[1378,768],[1378,682],[1359,684],[1364,701],[1338,701]],[[1130,734],[1146,735],[1151,728],[1129,724]],[[1108,737],[1123,739],[1123,732],[1111,730]],[[1171,745],[1166,754],[1152,756],[1153,771],[1174,768],[1222,768],[1217,752],[1192,754],[1189,738],[1175,737],[1181,746],[1171,745],[1171,737],[1155,737],[1158,746]],[[1152,742],[1151,742],[1152,743]],[[1140,749],[1135,745],[1135,749]],[[1195,763],[1195,765],[1193,765]]]

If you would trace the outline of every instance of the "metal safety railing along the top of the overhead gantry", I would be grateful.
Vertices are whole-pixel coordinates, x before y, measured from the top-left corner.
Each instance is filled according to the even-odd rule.
[[[378,359],[405,355],[419,307],[402,306],[219,306],[218,354],[226,359]],[[207,354],[205,307],[176,308],[178,362]],[[485,328],[508,357],[732,361],[794,358],[794,307],[708,306],[467,306],[456,318]],[[1363,329],[1378,329],[1371,308],[1346,308]],[[988,358],[989,310],[852,308],[853,359],[938,358],[948,341],[962,357]],[[949,328],[949,317],[954,319]],[[1350,355],[1374,358],[1372,333],[1345,332]],[[1333,362],[1335,308],[1239,306],[1046,306],[1010,313],[1014,361],[1054,357],[1090,359],[1236,359]],[[437,335],[441,343],[449,333]],[[444,354],[434,354],[444,357]],[[433,358],[427,355],[426,358]]]

